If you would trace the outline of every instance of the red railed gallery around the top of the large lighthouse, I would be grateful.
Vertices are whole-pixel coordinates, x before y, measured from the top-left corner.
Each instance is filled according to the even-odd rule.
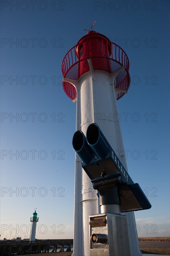
[[[93,69],[105,70],[109,73],[116,71],[119,67],[124,66],[118,76],[116,77],[117,88],[128,90],[130,85],[129,75],[129,59],[124,50],[110,41],[96,40],[94,51],[84,52],[82,44],[72,47],[62,61],[62,73],[64,78],[78,80],[78,78],[88,72],[90,67],[87,59],[92,60]],[[80,50],[81,49],[81,50]],[[76,98],[76,89],[69,82],[63,82],[65,94],[72,100]],[[117,95],[117,100],[120,99],[124,93]]]

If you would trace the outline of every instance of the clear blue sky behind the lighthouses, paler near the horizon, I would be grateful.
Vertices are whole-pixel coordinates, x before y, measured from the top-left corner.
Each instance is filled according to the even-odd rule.
[[[131,85],[118,101],[131,178],[152,208],[135,213],[138,236],[170,235],[170,2],[1,1],[1,238],[73,238],[76,103],[62,60],[94,30],[129,57]],[[15,192],[14,192],[15,191]]]

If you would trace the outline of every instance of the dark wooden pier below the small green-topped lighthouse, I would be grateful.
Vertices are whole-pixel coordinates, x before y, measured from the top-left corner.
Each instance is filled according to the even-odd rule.
[[[0,256],[72,252],[73,239],[0,241]]]

